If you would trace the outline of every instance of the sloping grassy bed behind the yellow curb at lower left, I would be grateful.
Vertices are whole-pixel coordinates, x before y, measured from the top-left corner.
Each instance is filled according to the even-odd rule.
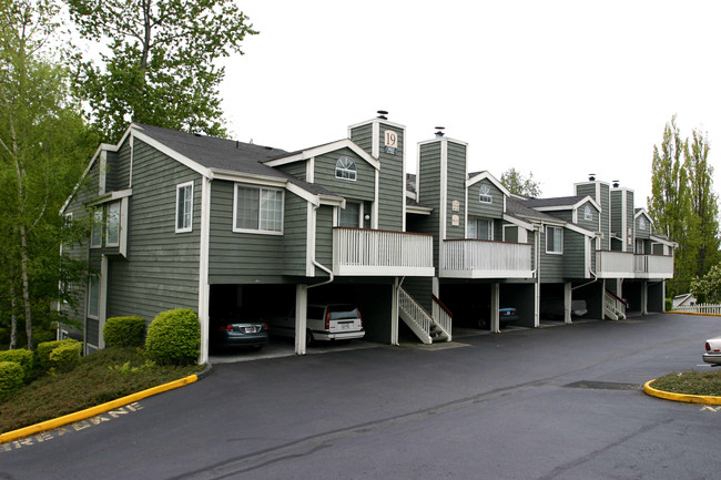
[[[0,432],[94,407],[197,374],[204,366],[158,366],[142,350],[112,347],[81,359],[70,372],[41,377],[0,404]]]

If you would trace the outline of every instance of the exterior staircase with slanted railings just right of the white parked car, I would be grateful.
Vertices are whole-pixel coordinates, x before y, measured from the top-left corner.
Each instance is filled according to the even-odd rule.
[[[433,296],[433,314],[405,288],[398,289],[398,316],[424,344],[450,341],[453,317],[450,310]]]

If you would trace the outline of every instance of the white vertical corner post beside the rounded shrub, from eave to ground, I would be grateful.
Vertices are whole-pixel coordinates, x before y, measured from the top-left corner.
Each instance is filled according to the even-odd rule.
[[[199,364],[207,362],[210,338],[210,244],[211,244],[211,185],[203,177],[201,186],[201,235],[197,273],[197,316],[201,320],[201,351]]]

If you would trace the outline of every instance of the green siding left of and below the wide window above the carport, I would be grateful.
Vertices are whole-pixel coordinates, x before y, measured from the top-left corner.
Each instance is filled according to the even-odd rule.
[[[213,181],[210,283],[273,283],[284,273],[283,235],[233,232],[234,185],[233,182]],[[285,192],[286,201],[288,196]]]

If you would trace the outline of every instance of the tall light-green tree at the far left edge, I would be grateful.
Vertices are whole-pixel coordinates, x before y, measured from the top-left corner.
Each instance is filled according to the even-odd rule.
[[[35,319],[49,327],[62,277],[58,212],[95,143],[68,72],[50,60],[58,12],[52,0],[0,0],[0,324],[10,320],[10,348],[21,320],[29,348]]]

